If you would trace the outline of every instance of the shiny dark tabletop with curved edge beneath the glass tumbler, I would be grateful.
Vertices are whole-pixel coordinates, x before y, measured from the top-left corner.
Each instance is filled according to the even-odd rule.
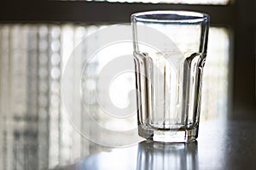
[[[195,143],[145,140],[86,156],[59,169],[256,169],[255,116],[202,122]]]

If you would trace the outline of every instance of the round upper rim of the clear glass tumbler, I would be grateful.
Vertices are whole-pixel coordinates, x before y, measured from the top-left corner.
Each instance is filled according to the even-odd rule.
[[[132,22],[196,24],[209,20],[208,14],[185,10],[155,10],[131,14]]]

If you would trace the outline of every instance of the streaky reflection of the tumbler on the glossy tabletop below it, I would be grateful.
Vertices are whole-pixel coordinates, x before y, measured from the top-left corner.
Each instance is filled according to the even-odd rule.
[[[157,143],[143,141],[138,145],[137,170],[198,169],[197,142]]]

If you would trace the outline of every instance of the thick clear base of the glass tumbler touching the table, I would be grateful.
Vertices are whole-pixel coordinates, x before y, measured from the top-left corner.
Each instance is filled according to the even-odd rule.
[[[138,134],[145,139],[157,142],[194,142],[198,136],[198,126],[191,128],[179,128],[172,130],[155,129],[152,127],[138,126]]]

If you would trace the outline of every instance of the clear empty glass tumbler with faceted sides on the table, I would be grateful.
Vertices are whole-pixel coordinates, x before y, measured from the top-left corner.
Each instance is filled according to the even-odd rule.
[[[138,133],[161,142],[198,136],[209,15],[149,11],[131,15]]]

